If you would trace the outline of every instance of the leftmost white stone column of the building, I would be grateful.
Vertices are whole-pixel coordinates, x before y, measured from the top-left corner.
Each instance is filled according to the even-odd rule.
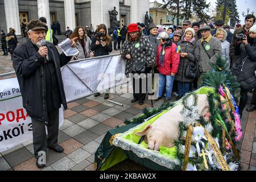
[[[7,33],[9,32],[9,28],[14,28],[16,31],[15,34],[21,35],[18,0],[5,0],[4,4]]]

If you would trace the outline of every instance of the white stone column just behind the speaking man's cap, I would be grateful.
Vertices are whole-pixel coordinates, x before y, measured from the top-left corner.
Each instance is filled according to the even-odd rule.
[[[44,17],[47,20],[47,26],[51,29],[51,18],[49,13],[49,0],[38,0],[38,18]]]

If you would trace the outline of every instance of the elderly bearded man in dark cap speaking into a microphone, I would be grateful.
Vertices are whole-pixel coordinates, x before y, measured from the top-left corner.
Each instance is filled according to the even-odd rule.
[[[40,20],[31,20],[27,24],[29,39],[19,44],[13,53],[13,67],[22,93],[23,107],[32,120],[32,134],[36,166],[43,168],[41,161],[47,147],[63,152],[58,145],[59,108],[63,104],[67,109],[60,67],[72,57],[59,54],[56,47],[42,40],[46,39],[47,25]],[[74,38],[71,40],[75,46]],[[46,135],[46,126],[47,133]]]

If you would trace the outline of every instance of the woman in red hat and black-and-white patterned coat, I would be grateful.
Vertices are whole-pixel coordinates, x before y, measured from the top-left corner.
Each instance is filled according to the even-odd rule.
[[[131,102],[139,101],[139,105],[143,105],[146,97],[147,88],[142,88],[142,82],[146,82],[146,78],[141,78],[141,73],[148,73],[148,68],[155,64],[155,52],[146,36],[142,33],[142,28],[136,23],[131,23],[128,26],[126,35],[126,42],[123,43],[120,49],[121,55],[126,59],[125,74],[129,77],[130,73],[138,73],[139,76],[135,78],[133,75],[133,100]],[[135,81],[139,80],[139,81]],[[139,89],[135,89],[137,87]],[[139,90],[139,93],[135,92]]]

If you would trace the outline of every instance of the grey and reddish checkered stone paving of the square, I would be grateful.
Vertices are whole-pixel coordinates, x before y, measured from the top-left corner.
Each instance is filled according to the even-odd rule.
[[[2,52],[0,54],[0,73],[10,72],[9,68],[12,68],[10,58],[8,60],[10,56],[2,56]],[[129,89],[131,91],[132,87],[121,90],[126,93]],[[248,104],[251,95],[249,93]],[[113,94],[110,94],[110,99],[113,97]],[[115,126],[123,125],[125,119],[138,117],[143,107],[151,107],[149,100],[145,101],[144,105],[139,105],[138,102],[131,103],[132,97],[133,94],[129,93],[117,94],[116,101],[121,102],[123,107],[104,100],[104,94],[100,97],[90,96],[69,103],[68,110],[64,112],[64,124],[59,130],[59,143],[64,148],[64,153],[59,154],[48,150],[47,165],[43,170],[93,171],[94,153],[105,134]],[[175,99],[176,97],[172,96],[171,101]],[[154,107],[161,104],[163,104],[163,98],[157,102],[154,101]],[[243,138],[240,142],[241,164],[244,171],[256,171],[255,123],[256,111],[248,113],[244,110],[241,119]],[[0,154],[0,171],[40,171],[41,169],[36,167],[35,162],[32,142],[26,142]],[[127,159],[110,170],[148,169]]]

